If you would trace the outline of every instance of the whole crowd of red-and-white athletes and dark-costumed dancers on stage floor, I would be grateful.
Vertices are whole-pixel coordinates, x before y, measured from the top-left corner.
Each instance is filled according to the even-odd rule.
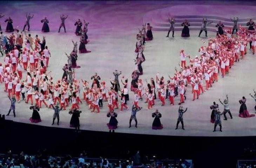
[[[61,16],[62,22],[60,28],[64,27],[65,29],[64,22],[67,17],[68,16],[65,15]],[[29,30],[29,20],[33,18],[33,15],[28,14],[26,18],[27,20],[23,30],[25,30],[26,26],[28,26]],[[7,24],[8,31],[12,28],[11,18],[9,19],[9,25]],[[235,26],[237,26],[237,20],[238,18],[234,21]],[[49,30],[49,21],[47,18],[44,18],[41,22],[43,23],[43,30],[47,32]],[[248,43],[250,43],[252,53],[255,53],[256,38],[254,29],[252,30],[250,27],[250,29],[245,29],[241,26],[234,26],[233,30],[236,30],[236,35],[233,35],[234,31],[231,28],[225,28],[221,26],[222,23],[219,22],[217,36],[215,38],[209,38],[208,45],[202,40],[206,46],[202,46],[198,50],[198,55],[200,56],[192,58],[182,49],[180,51],[181,62],[178,63],[179,68],[175,68],[173,75],[168,75],[169,80],[167,79],[167,81],[165,81],[165,78],[157,73],[155,77],[149,79],[150,82],[148,82],[148,79],[144,79],[146,81],[146,85],[144,85],[142,80],[142,63],[146,61],[146,58],[143,54],[143,50],[146,48],[146,42],[153,40],[152,27],[150,23],[145,23],[136,35],[135,52],[137,56],[134,59],[135,69],[131,75],[132,80],[130,87],[128,79],[125,79],[124,76],[121,77],[121,82],[119,81],[119,76],[122,72],[117,70],[113,72],[114,79],[110,79],[110,87],[108,87],[106,81],[100,81],[101,78],[97,73],[90,77],[91,82],[89,82],[88,79],[79,80],[75,78],[75,71],[80,68],[80,66],[76,64],[78,51],[79,53],[90,52],[85,48],[85,44],[89,42],[87,36],[89,23],[85,20],[83,22],[83,27],[80,19],[75,22],[75,34],[81,36],[79,49],[78,43],[72,40],[74,48],[70,54],[65,53],[68,60],[67,64],[62,68],[63,75],[59,79],[54,79],[51,76],[51,72],[47,71],[51,54],[46,45],[45,37],[43,37],[41,41],[38,36],[33,38],[31,34],[27,34],[27,31],[24,31],[23,34],[22,32],[20,33],[18,29],[14,29],[15,35],[11,34],[5,36],[3,32],[1,32],[0,39],[2,48],[4,48],[5,58],[4,64],[0,63],[0,82],[5,85],[4,91],[7,92],[8,98],[11,101],[11,107],[7,116],[9,116],[10,112],[13,110],[15,117],[15,103],[20,103],[23,100],[25,103],[28,104],[30,102],[32,105],[29,107],[29,109],[33,110],[32,117],[30,118],[31,122],[38,123],[41,121],[39,110],[44,105],[46,108],[53,109],[54,111],[52,125],[56,118],[58,120],[57,124],[59,125],[60,112],[70,107],[69,114],[72,114],[70,127],[75,127],[79,130],[80,104],[86,104],[88,110],[91,110],[91,112],[95,112],[96,110],[96,113],[100,113],[100,110],[103,108],[103,102],[104,104],[106,102],[109,109],[107,117],[110,117],[107,125],[109,131],[111,132],[111,130],[113,130],[114,132],[118,125],[116,119],[117,109],[120,108],[120,111],[123,111],[123,109],[129,110],[127,101],[129,101],[130,90],[134,92],[134,101],[132,102],[129,128],[132,127],[132,120],[135,120],[135,127],[137,128],[138,121],[136,113],[142,110],[139,104],[143,99],[145,100],[144,103],[147,103],[146,110],[150,110],[154,109],[153,106],[159,102],[161,106],[167,106],[167,100],[170,101],[170,106],[173,106],[175,105],[174,100],[179,98],[178,105],[180,106],[178,108],[176,129],[179,123],[181,123],[182,129],[184,130],[183,114],[188,108],[183,110],[182,104],[189,98],[188,93],[186,93],[187,88],[191,87],[191,98],[193,101],[199,99],[200,95],[208,91],[211,87],[214,87],[214,83],[218,82],[220,75],[224,78],[224,76],[228,75],[230,68],[233,67],[235,62],[237,63],[240,59],[245,57]],[[251,22],[250,20],[248,23]],[[171,18],[171,27],[168,36],[170,31],[173,31],[174,37],[174,23],[175,19]],[[208,23],[207,19],[203,19],[200,34],[202,31],[206,31],[207,36],[207,24],[210,23]],[[189,22],[184,21],[182,25],[184,26],[182,36],[189,36]],[[219,31],[220,27],[223,29],[223,34]],[[24,37],[25,40],[23,39]],[[25,46],[23,46],[23,44],[25,44]],[[188,62],[189,65],[187,65]],[[23,75],[24,73],[26,75]],[[123,86],[120,86],[120,84]],[[256,92],[254,93],[253,95],[250,94],[250,96],[256,101]],[[80,94],[82,94],[82,96]],[[159,99],[159,101],[157,99]],[[224,106],[223,113],[220,113],[220,108],[215,102],[214,105],[210,106],[213,110],[211,122],[214,123],[214,131],[216,131],[217,125],[220,126],[220,131],[222,131],[222,114],[225,120],[227,120],[226,113],[229,113],[231,119],[233,118],[229,108],[228,96],[223,102],[221,100],[219,101]],[[35,102],[35,104],[33,102]],[[245,97],[239,100],[241,104],[239,117],[254,117],[254,114],[249,114],[247,111],[245,102]],[[152,117],[154,118],[152,129],[162,129],[163,125],[160,121],[162,114],[158,109],[155,109],[155,112],[152,113]]]

